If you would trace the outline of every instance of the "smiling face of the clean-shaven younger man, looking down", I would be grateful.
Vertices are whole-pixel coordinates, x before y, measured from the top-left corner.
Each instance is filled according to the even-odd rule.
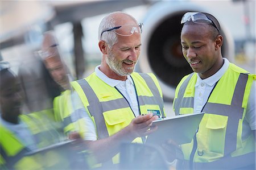
[[[214,38],[207,24],[185,24],[180,39],[183,56],[202,79],[212,76],[224,64],[221,55],[223,37]]]

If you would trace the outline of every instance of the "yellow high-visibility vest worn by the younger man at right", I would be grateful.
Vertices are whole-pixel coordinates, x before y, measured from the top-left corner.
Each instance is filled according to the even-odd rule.
[[[250,132],[242,138],[243,120],[255,74],[229,64],[207,103],[199,130],[191,143],[181,146],[185,168],[193,158],[193,168],[240,168],[255,164],[255,140]],[[185,76],[177,85],[174,99],[176,115],[193,113],[197,74]],[[196,141],[194,141],[196,139]]]

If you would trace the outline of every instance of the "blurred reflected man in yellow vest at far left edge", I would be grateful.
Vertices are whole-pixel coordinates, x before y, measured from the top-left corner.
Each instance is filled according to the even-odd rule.
[[[0,61],[0,77],[0,169],[89,169],[79,143],[50,149],[49,136],[57,139],[56,133],[51,134],[40,117],[21,113],[23,90],[5,61]]]

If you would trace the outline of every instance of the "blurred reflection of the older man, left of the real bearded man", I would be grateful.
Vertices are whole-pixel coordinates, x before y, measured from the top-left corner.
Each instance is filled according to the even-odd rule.
[[[77,95],[73,95],[70,84],[73,78],[61,57],[57,39],[53,31],[44,33],[42,50],[38,53],[49,75],[56,82],[61,92],[59,96],[53,99],[55,121],[63,124],[63,131],[67,136],[71,132],[79,132],[80,136],[84,138],[86,132],[84,115],[86,111],[82,104],[77,105],[77,103],[81,103],[79,101],[80,98]]]

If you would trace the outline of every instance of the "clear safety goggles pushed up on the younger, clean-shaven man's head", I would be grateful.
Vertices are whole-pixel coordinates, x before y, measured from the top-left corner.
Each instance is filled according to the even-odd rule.
[[[218,30],[218,32],[220,32],[216,24],[211,19],[209,19],[207,15],[203,13],[193,13],[193,12],[185,13],[182,16],[180,23],[183,24],[185,22],[188,22],[189,20],[192,20],[192,22],[197,24],[212,24]]]

